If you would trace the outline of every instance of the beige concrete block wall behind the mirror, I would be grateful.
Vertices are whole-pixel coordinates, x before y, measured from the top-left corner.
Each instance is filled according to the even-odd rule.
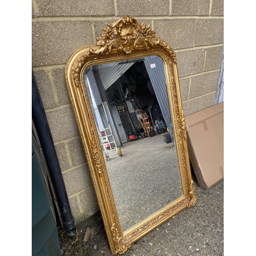
[[[32,0],[32,69],[76,222],[98,210],[69,101],[71,54],[95,45],[108,23],[129,14],[177,54],[184,115],[215,104],[223,52],[223,0]]]

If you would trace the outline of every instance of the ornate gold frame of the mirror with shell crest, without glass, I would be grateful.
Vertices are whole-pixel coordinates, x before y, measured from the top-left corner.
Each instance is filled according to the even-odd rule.
[[[141,34],[141,36],[139,36]],[[176,138],[183,196],[154,215],[122,232],[108,173],[101,151],[95,120],[89,101],[84,73],[92,65],[158,55],[165,67],[170,113]],[[65,69],[65,79],[84,152],[90,167],[106,236],[112,254],[124,253],[132,243],[186,207],[196,204],[186,142],[186,126],[182,111],[177,59],[173,49],[144,23],[127,15],[103,29],[96,46],[83,47],[72,54]]]

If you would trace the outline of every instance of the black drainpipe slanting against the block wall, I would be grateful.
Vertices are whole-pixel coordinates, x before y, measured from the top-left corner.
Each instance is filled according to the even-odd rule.
[[[39,94],[35,75],[32,70],[32,119],[38,138],[44,152],[48,170],[51,176],[52,184],[60,208],[63,227],[66,228],[69,236],[73,236],[76,232],[74,217],[70,209],[69,199],[61,174],[59,161],[54,147],[49,123],[46,117],[44,106]]]

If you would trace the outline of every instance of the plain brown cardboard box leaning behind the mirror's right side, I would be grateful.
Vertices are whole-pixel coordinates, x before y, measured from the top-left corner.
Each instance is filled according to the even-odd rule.
[[[185,117],[189,160],[200,187],[224,178],[224,102]]]

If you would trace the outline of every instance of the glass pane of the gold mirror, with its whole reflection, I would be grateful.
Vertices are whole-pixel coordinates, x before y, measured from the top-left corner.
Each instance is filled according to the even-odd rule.
[[[84,79],[125,232],[183,196],[164,64],[157,55],[104,63]]]

